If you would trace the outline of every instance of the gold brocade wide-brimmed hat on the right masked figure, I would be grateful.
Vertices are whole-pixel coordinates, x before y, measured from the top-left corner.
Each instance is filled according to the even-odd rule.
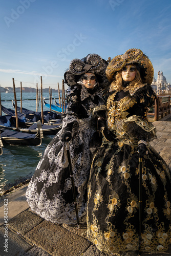
[[[121,70],[126,65],[133,63],[140,68],[142,82],[151,84],[154,77],[152,62],[139,49],[127,50],[124,54],[113,58],[106,68],[106,77],[110,82],[112,82],[117,71]]]

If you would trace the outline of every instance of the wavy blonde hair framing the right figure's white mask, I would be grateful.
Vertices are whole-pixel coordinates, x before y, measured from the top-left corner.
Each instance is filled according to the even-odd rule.
[[[120,70],[116,73],[115,79],[111,83],[111,86],[114,87],[114,89],[116,91],[121,91],[124,88],[122,86],[122,82],[123,82],[122,70]],[[141,79],[141,75],[140,75],[140,72],[136,69],[136,76],[135,76],[134,80],[130,82],[129,86],[134,87],[134,86],[141,85],[141,84],[143,84],[142,79]]]

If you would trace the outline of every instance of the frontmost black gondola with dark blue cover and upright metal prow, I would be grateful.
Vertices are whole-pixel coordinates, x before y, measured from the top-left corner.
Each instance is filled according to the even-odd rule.
[[[42,138],[44,138],[42,134],[41,129],[41,123],[40,121],[37,122],[37,133],[36,134],[28,134],[28,133],[22,133],[20,131],[12,131],[8,129],[4,129],[0,131],[0,147],[2,151],[2,146],[4,144],[10,144],[10,145],[31,145],[31,146],[39,146],[41,145]]]

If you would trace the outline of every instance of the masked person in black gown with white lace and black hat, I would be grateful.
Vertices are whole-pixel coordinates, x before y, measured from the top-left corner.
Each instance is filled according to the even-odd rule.
[[[32,210],[40,217],[54,222],[76,224],[72,184],[65,150],[68,139],[74,173],[80,223],[86,222],[87,182],[90,173],[90,141],[92,110],[103,104],[102,91],[108,79],[108,62],[97,54],[73,59],[65,73],[67,90],[66,116],[62,129],[47,146],[29,183],[26,197]]]

